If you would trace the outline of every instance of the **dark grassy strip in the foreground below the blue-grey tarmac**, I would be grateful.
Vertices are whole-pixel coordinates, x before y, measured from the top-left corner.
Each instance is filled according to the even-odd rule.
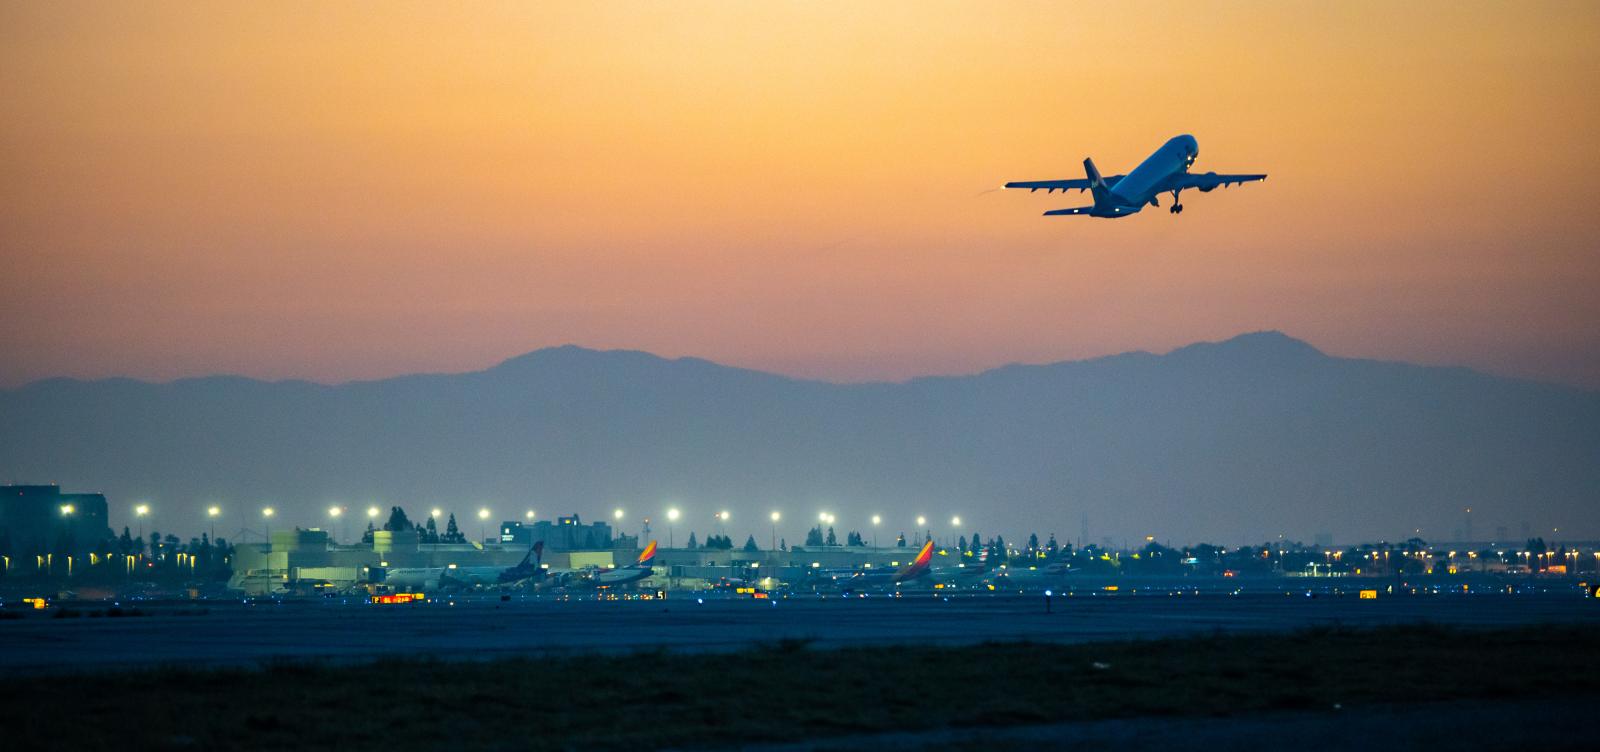
[[[733,747],[890,730],[1600,693],[1592,629],[278,662],[6,680],[6,749]]]

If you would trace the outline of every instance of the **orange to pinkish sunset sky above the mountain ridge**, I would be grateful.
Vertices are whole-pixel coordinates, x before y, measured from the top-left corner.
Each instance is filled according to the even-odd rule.
[[[1600,387],[1600,3],[5,3],[0,386],[1277,328]],[[986,192],[1178,133],[1272,179]]]

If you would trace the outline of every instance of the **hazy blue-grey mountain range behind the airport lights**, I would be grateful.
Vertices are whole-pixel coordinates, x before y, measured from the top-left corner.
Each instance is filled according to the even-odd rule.
[[[882,541],[918,514],[939,534],[960,514],[963,534],[1062,542],[1085,514],[1094,541],[1448,539],[1466,507],[1478,538],[1523,522],[1594,538],[1600,392],[1336,358],[1280,333],[896,384],[568,346],[338,386],[0,390],[0,478],[104,491],[117,525],[147,499],[147,526],[182,534],[216,499],[229,533],[259,530],[266,502],[306,526],[333,502],[496,518],[621,506],[626,528],[651,515],[664,533],[675,502],[680,538],[730,509],[734,538],[763,544],[771,509],[790,542],[822,509],[864,531],[883,514]]]

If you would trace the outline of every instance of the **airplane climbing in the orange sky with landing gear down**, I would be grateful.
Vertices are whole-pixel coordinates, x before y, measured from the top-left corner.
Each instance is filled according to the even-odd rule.
[[[1088,190],[1094,197],[1093,206],[1077,206],[1070,210],[1051,210],[1045,216],[1088,214],[1101,218],[1118,218],[1138,214],[1146,205],[1160,206],[1157,197],[1173,194],[1173,214],[1184,211],[1178,194],[1195,189],[1210,194],[1219,186],[1227,187],[1235,182],[1264,181],[1266,174],[1194,174],[1189,171],[1195,158],[1200,157],[1200,142],[1194,136],[1176,136],[1162,144],[1150,157],[1133,168],[1128,174],[1101,178],[1094,168],[1094,160],[1083,160],[1083,173],[1088,178],[1064,181],[1018,181],[1006,182],[1008,189],[1027,189],[1029,192],[1045,189],[1046,192]]]

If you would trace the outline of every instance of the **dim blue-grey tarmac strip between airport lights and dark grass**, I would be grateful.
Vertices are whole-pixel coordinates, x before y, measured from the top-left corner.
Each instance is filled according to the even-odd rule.
[[[123,603],[133,606],[133,603]],[[94,605],[82,610],[104,608]],[[107,666],[256,666],[278,658],[427,656],[739,650],[779,638],[816,646],[984,640],[1091,642],[1310,626],[1434,622],[1600,626],[1600,600],[1576,592],[1478,595],[1102,594],[666,602],[557,602],[458,597],[374,606],[355,598],[139,605],[139,618],[0,621],[0,670],[50,674]]]

